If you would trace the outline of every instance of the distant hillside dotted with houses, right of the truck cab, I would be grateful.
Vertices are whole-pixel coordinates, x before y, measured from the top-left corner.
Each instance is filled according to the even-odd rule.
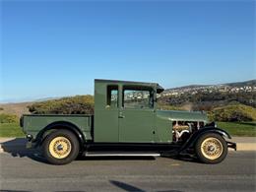
[[[256,107],[256,80],[167,89],[160,95],[159,100],[161,104],[186,109],[189,106],[191,110],[212,110],[230,102]]]

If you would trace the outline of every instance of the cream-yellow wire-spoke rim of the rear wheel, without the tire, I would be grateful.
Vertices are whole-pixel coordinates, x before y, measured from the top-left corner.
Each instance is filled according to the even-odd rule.
[[[67,138],[56,137],[50,142],[49,152],[56,159],[64,159],[70,154],[71,148],[71,143]]]

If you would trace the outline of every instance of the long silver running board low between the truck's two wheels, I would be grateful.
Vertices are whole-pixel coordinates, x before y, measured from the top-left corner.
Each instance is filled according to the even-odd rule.
[[[160,157],[159,153],[147,152],[86,152],[86,157]]]

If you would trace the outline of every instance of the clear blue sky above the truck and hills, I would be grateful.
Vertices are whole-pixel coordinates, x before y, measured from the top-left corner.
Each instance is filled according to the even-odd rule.
[[[255,79],[255,1],[1,1],[1,100]]]

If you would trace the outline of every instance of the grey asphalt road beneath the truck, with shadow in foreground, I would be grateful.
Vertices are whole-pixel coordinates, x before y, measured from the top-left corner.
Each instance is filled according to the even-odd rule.
[[[255,152],[219,164],[168,158],[82,159],[51,165],[32,154],[0,154],[2,191],[255,191]]]

